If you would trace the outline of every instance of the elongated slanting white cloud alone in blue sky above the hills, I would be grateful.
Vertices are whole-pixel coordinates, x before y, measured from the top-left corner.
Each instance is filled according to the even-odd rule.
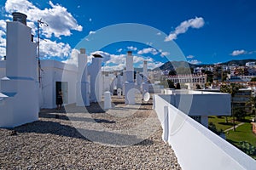
[[[170,33],[169,36],[166,37],[165,42],[177,39],[177,35],[185,33],[189,30],[189,27],[199,29],[204,25],[205,21],[202,17],[195,17],[195,19],[185,20],[175,28],[175,31],[172,31],[172,33]]]

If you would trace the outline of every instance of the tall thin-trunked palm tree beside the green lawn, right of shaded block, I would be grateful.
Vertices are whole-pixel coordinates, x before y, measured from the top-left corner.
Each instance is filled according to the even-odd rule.
[[[236,125],[235,125],[235,115],[234,115],[234,105],[233,105],[233,99],[236,95],[236,93],[239,90],[239,86],[237,86],[235,83],[230,83],[230,85],[222,85],[220,87],[220,91],[223,93],[229,93],[231,94],[231,115],[233,117],[233,130],[236,131]],[[227,122],[227,116],[226,116],[226,122]]]

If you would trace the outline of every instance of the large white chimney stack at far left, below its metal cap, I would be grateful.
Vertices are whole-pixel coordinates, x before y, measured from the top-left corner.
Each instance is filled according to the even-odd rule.
[[[7,23],[6,77],[1,79],[0,127],[16,127],[38,120],[36,47],[31,28]]]

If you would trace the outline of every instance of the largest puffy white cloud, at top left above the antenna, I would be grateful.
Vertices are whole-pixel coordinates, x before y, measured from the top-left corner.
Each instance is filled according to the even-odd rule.
[[[71,30],[82,31],[73,15],[67,12],[67,8],[60,4],[49,1],[50,8],[40,9],[28,0],[7,0],[5,10],[11,14],[19,11],[27,15],[27,20],[37,22],[42,19],[48,26],[42,26],[42,33],[45,37],[71,36]]]

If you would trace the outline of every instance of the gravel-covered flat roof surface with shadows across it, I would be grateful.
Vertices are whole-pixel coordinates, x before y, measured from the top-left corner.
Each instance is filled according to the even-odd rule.
[[[116,103],[112,110],[103,111],[99,105],[91,105],[84,113],[83,108],[67,105],[66,111],[40,111],[37,122],[12,130],[1,128],[0,169],[181,169],[172,147],[161,139],[162,129],[160,122],[155,122],[152,105],[139,105],[131,114],[132,108],[125,109],[123,100],[113,100]],[[130,111],[129,116],[124,116],[126,111]],[[97,129],[96,124],[111,132],[92,131]],[[124,141],[102,144],[104,136],[92,141],[79,133],[79,127],[90,127],[85,132],[106,134],[106,140],[113,135],[124,137]],[[147,130],[150,135],[137,144],[121,144],[131,137],[143,138],[143,131]],[[10,135],[14,131],[15,135]]]

